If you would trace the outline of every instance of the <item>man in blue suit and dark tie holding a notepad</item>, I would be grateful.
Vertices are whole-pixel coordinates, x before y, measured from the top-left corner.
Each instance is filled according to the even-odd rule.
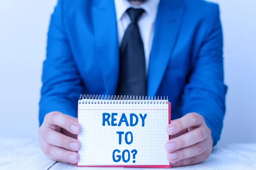
[[[75,164],[80,94],[168,96],[172,166],[206,160],[225,113],[219,8],[204,0],[58,0],[49,24],[39,143]]]

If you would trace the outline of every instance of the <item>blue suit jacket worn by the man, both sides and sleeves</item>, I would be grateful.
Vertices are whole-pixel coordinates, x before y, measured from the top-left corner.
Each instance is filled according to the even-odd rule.
[[[196,112],[220,137],[225,113],[219,8],[204,0],[161,0],[148,70],[148,96],[168,96],[172,119]],[[58,0],[49,24],[39,103],[44,116],[77,117],[80,94],[115,95],[119,45],[113,0]]]

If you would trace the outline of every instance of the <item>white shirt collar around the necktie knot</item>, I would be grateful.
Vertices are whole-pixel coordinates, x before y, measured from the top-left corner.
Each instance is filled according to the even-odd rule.
[[[114,0],[116,6],[116,20],[121,20],[125,11],[130,8],[143,8],[145,12],[153,19],[156,19],[157,10],[160,0],[147,0],[145,3],[140,6],[134,6],[129,3],[128,0]]]

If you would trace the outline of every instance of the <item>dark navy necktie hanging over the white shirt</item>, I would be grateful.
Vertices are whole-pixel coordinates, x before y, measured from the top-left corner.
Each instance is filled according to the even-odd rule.
[[[125,31],[120,47],[119,82],[117,95],[146,96],[147,78],[145,71],[145,54],[140,36],[138,20],[145,11],[141,8],[129,8],[131,23]]]

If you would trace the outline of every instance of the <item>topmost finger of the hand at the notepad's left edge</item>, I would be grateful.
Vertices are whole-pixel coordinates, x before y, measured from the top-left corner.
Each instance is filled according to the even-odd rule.
[[[81,129],[76,119],[61,112],[48,113],[44,118],[44,123],[62,127],[73,134],[78,134]]]

